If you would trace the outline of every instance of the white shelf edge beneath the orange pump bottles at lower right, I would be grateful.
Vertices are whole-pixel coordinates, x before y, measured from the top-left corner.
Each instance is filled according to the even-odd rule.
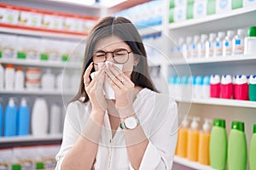
[[[182,157],[179,156],[174,156],[173,161],[175,163],[178,163],[180,165],[186,166],[186,167],[191,167],[197,170],[214,170],[214,168],[210,167],[210,166],[206,166],[206,165],[201,165],[198,162],[195,161],[189,161],[187,159],[184,159]]]

